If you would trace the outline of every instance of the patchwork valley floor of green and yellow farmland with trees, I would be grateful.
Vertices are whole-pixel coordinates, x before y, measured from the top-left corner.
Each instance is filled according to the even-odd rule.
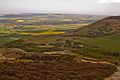
[[[80,21],[81,23],[77,24],[72,23],[76,20],[71,22],[71,19],[70,24],[66,24],[66,20],[69,22],[69,19],[56,19],[57,21],[49,21],[48,19],[40,20],[38,18],[35,21],[18,22],[24,24],[31,23],[32,25],[19,26],[16,24],[14,27],[7,27],[13,25],[1,23],[1,26],[6,27],[0,27],[0,45],[9,48],[20,48],[28,52],[71,50],[80,55],[94,58],[120,58],[120,34],[99,38],[80,37],[77,35],[66,36],[64,34],[72,33],[74,30],[88,25],[89,23],[86,22],[89,19],[85,19],[84,21],[86,22]],[[80,48],[79,45],[82,45],[83,48]]]

